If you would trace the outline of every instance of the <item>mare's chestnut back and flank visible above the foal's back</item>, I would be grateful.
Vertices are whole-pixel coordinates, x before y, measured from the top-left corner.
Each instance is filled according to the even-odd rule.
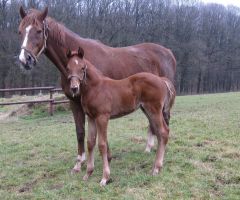
[[[174,82],[176,60],[169,49],[153,43],[112,48],[102,43],[92,43],[87,48],[86,58],[103,75],[123,79],[140,72],[165,76]],[[89,49],[89,51],[88,51]]]

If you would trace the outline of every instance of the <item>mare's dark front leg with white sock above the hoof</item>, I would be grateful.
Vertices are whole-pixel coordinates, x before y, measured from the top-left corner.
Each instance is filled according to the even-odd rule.
[[[76,134],[77,134],[77,143],[78,143],[78,156],[77,162],[72,169],[72,172],[79,172],[81,170],[82,163],[86,160],[85,148],[84,148],[84,138],[85,138],[85,114],[82,109],[80,101],[70,101],[70,107],[73,113]]]

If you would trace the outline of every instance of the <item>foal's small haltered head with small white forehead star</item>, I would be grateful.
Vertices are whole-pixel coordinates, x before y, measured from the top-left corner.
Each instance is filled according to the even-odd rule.
[[[78,51],[67,51],[69,58],[67,64],[68,80],[73,97],[79,95],[80,85],[86,81],[87,65],[83,59],[84,51],[79,47]]]

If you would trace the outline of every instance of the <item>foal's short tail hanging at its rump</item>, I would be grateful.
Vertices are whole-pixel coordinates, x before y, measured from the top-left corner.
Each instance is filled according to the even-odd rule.
[[[163,106],[163,116],[165,119],[166,124],[169,126],[169,120],[170,120],[170,110],[174,104],[175,96],[176,96],[176,90],[172,82],[167,78],[162,78],[164,84],[167,87],[168,93],[166,94],[164,106]]]

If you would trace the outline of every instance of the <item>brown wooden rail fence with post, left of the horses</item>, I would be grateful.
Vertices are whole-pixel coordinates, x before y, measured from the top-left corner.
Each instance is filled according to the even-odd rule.
[[[52,116],[54,111],[54,105],[61,103],[68,103],[69,100],[55,100],[54,93],[62,92],[61,88],[49,87],[29,87],[29,88],[9,88],[0,89],[0,92],[23,92],[23,91],[38,91],[45,90],[49,91],[49,99],[45,100],[29,100],[29,101],[16,101],[16,102],[0,102],[0,106],[16,105],[16,104],[28,104],[28,103],[49,103],[49,114]]]

